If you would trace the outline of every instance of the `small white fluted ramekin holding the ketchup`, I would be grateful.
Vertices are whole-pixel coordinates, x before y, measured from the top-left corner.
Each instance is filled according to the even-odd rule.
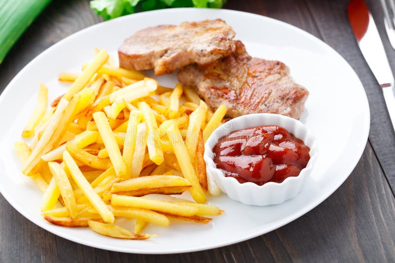
[[[218,140],[234,131],[262,125],[277,125],[297,138],[310,148],[310,161],[296,177],[288,177],[282,183],[269,182],[262,186],[254,183],[240,184],[233,177],[225,177],[213,161],[212,149]],[[230,198],[251,205],[270,205],[282,203],[296,197],[313,169],[318,151],[316,138],[309,129],[300,121],[279,114],[257,113],[237,117],[218,127],[208,138],[204,145],[204,161],[206,162],[207,175],[211,176],[222,192]]]

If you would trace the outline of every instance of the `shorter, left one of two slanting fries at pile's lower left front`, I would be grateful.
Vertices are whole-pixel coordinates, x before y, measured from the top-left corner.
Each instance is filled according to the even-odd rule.
[[[55,178],[56,184],[59,188],[60,195],[63,198],[65,203],[65,207],[69,211],[69,215],[72,219],[75,219],[77,216],[77,204],[76,199],[74,197],[73,188],[71,187],[69,178],[67,178],[67,174],[63,170],[60,164],[49,162],[49,169],[52,172],[53,178]]]

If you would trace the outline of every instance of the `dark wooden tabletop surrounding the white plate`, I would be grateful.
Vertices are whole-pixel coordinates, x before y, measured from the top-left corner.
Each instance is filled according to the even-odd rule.
[[[0,262],[394,262],[395,134],[382,92],[354,40],[347,2],[228,0],[224,7],[273,17],[312,33],[337,50],[364,85],[371,113],[366,148],[345,183],[315,209],[235,245],[154,256],[110,252],[58,237],[25,219],[0,195]],[[395,68],[379,1],[367,3]],[[0,90],[46,48],[99,22],[88,1],[54,0],[0,65]]]

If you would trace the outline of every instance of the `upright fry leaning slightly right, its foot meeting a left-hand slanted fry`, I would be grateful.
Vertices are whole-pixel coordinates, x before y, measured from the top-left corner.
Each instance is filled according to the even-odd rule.
[[[133,163],[134,148],[137,138],[137,125],[140,122],[141,122],[141,112],[131,111],[127,123],[125,142],[123,144],[123,152],[122,152],[122,158],[126,164],[125,178],[132,177],[132,163]]]

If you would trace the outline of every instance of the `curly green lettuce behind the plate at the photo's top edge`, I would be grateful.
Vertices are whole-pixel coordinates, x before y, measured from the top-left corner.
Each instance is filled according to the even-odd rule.
[[[104,20],[133,14],[139,11],[170,7],[221,8],[226,0],[92,0],[92,8]]]

